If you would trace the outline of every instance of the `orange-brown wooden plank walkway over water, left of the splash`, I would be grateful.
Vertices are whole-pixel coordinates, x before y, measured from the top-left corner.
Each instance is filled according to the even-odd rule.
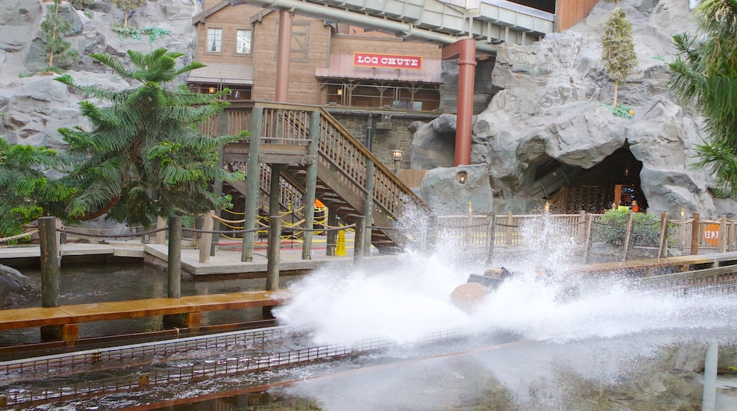
[[[41,327],[42,340],[63,340],[66,345],[74,345],[79,339],[80,323],[158,315],[164,316],[164,326],[198,331],[202,312],[276,306],[282,300],[276,298],[275,293],[276,291],[233,292],[75,304],[55,308],[7,309],[0,312],[0,331]]]

